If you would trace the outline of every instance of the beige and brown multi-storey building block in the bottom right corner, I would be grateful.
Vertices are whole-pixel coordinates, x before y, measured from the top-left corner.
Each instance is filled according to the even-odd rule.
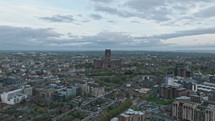
[[[198,95],[191,100],[177,100],[172,103],[172,116],[180,121],[215,121],[214,103],[202,102]]]

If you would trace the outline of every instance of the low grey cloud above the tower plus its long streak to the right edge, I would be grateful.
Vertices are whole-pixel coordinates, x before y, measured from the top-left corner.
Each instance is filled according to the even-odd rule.
[[[128,33],[122,32],[101,32],[93,36],[73,36],[68,40],[57,41],[59,45],[66,45],[66,43],[80,44],[82,47],[86,48],[100,48],[100,47],[110,47],[110,48],[156,48],[157,49],[164,45],[166,48],[171,47],[169,44],[164,44],[162,40],[193,36],[193,35],[203,35],[203,34],[215,34],[215,27],[213,28],[198,28],[192,30],[176,31],[174,33],[167,33],[161,35],[152,36],[141,36],[135,37]],[[55,42],[55,41],[53,41]]]

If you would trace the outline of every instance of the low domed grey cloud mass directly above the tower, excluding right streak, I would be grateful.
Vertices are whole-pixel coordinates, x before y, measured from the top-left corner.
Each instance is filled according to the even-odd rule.
[[[73,36],[74,37],[74,36]],[[136,39],[128,33],[122,32],[100,32],[92,36],[79,36],[74,37],[66,42],[74,43],[85,43],[82,44],[82,48],[88,49],[104,49],[104,48],[114,48],[114,49],[140,49],[140,48],[154,48],[163,45],[160,40],[145,40]],[[58,46],[65,45],[65,43],[59,43]]]

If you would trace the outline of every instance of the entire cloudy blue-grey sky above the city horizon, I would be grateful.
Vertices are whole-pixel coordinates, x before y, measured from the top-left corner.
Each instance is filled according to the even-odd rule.
[[[0,50],[215,50],[214,0],[0,0]]]

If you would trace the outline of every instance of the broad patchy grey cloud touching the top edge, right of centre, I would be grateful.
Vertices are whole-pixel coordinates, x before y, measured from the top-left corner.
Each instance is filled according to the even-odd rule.
[[[173,16],[181,16],[182,10],[186,10],[184,5],[169,0],[129,0],[124,5],[135,10],[137,17],[157,22],[169,21]],[[175,6],[180,6],[180,10],[174,9]]]

